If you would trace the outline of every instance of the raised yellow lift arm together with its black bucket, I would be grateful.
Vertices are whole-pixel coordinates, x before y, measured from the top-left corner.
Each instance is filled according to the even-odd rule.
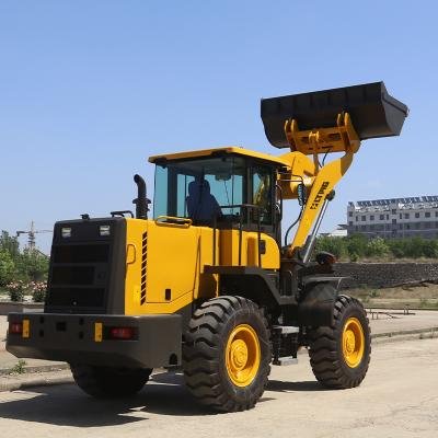
[[[290,163],[278,177],[283,198],[303,204],[296,235],[284,256],[307,263],[327,201],[361,140],[400,135],[408,108],[388,93],[383,82],[372,82],[264,99],[261,110],[269,142],[290,149],[281,155]],[[325,164],[325,157],[333,152],[344,155]],[[325,154],[322,164],[319,154]]]

